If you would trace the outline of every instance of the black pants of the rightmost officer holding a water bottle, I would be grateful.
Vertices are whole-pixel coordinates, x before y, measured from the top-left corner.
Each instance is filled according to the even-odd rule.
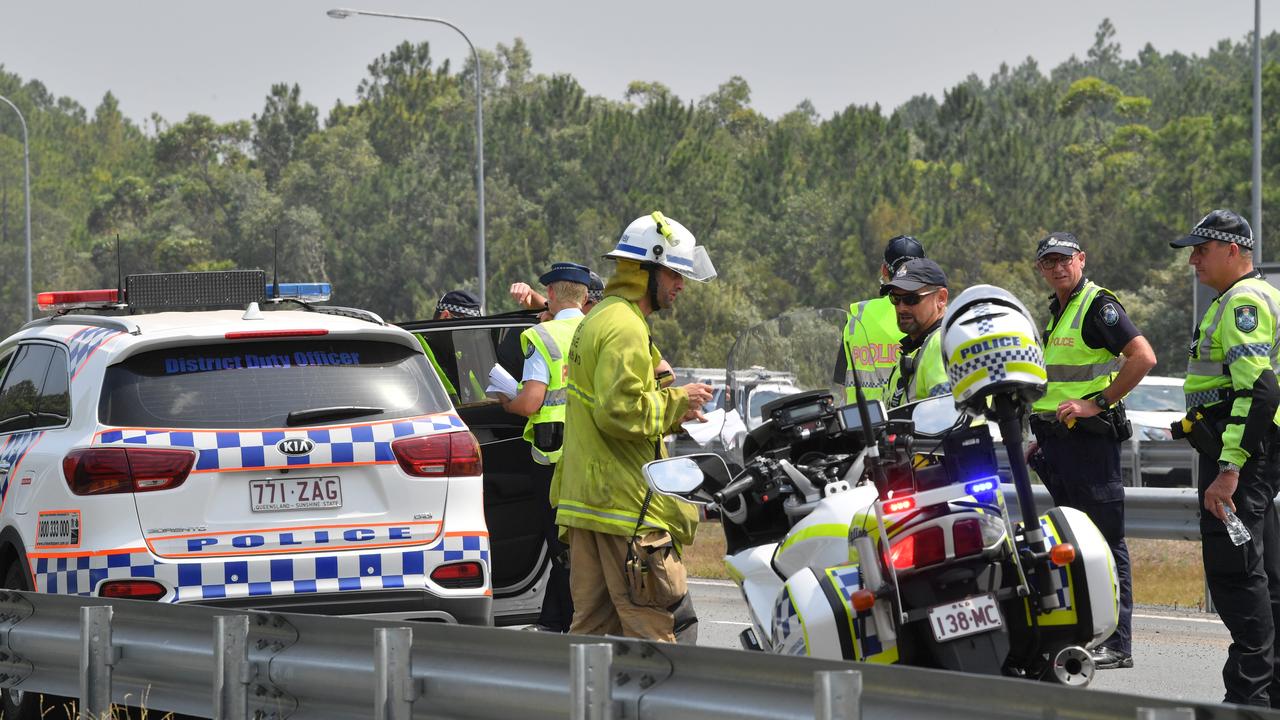
[[[1225,702],[1280,707],[1275,629],[1280,626],[1280,519],[1276,516],[1277,442],[1240,468],[1231,500],[1252,539],[1236,547],[1226,525],[1204,510],[1204,488],[1217,477],[1217,459],[1198,456],[1204,579],[1231,646],[1222,666]]]

